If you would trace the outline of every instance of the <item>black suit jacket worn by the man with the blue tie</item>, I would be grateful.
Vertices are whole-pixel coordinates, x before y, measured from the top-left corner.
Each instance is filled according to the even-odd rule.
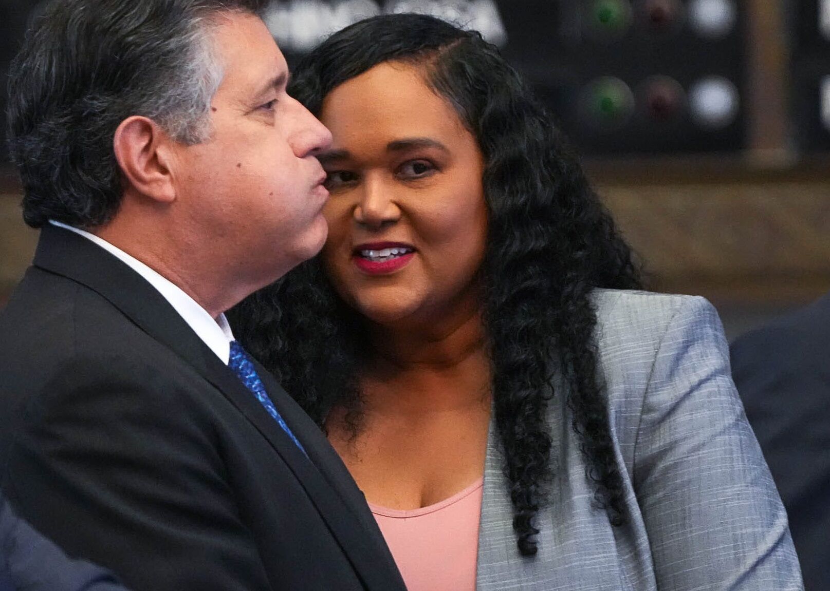
[[[404,589],[337,454],[258,371],[310,458],[139,274],[44,228],[0,315],[9,500],[135,591]]]

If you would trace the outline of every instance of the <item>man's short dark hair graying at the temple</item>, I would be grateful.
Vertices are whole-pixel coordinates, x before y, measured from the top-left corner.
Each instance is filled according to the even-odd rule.
[[[123,194],[113,137],[132,115],[181,143],[209,138],[222,81],[212,28],[267,0],[57,0],[10,70],[9,152],[23,218],[81,228],[115,216]]]

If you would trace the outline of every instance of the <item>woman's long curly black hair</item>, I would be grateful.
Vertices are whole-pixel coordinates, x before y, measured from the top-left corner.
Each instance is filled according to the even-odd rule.
[[[305,56],[289,91],[320,114],[326,94],[386,61],[421,68],[485,158],[489,225],[481,309],[521,554],[536,553],[534,520],[553,476],[545,419],[554,395],[552,367],[567,385],[567,393],[556,394],[568,396],[596,501],[614,525],[623,523],[589,295],[594,288],[640,287],[631,250],[549,115],[475,31],[422,15],[372,17]],[[359,368],[369,350],[363,321],[334,292],[319,260],[253,294],[231,317],[244,346],[318,424],[325,426],[337,407],[359,428]]]

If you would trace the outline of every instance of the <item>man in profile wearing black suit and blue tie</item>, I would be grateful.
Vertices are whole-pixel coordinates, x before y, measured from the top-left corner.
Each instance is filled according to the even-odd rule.
[[[403,589],[222,312],[317,253],[330,133],[256,0],[62,0],[12,64],[34,263],[0,317],[19,514],[131,589]]]

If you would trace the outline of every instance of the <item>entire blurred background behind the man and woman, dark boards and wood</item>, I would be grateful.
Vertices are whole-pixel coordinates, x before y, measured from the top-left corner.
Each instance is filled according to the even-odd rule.
[[[0,79],[45,4],[0,0]],[[525,74],[653,289],[710,298],[730,338],[830,291],[830,0],[280,0],[266,22],[291,63],[406,11],[482,31]],[[37,232],[0,142],[2,307]]]

